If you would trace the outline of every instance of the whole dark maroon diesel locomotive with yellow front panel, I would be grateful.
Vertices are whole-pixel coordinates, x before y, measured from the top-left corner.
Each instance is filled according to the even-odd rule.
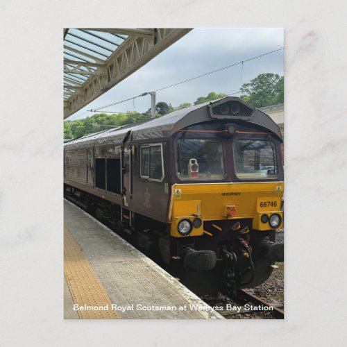
[[[228,96],[64,146],[65,197],[197,294],[264,282],[283,261],[282,135]]]

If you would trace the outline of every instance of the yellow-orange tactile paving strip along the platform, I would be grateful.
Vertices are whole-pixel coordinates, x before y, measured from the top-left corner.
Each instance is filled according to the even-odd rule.
[[[108,310],[78,310],[80,319],[120,319],[111,301],[88,264],[80,247],[64,228],[64,274],[71,296],[78,307],[103,307]]]

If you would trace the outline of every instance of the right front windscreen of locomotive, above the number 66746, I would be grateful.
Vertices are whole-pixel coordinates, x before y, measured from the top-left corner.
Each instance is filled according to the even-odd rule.
[[[242,139],[234,142],[237,178],[266,179],[277,176],[276,150],[269,140]]]

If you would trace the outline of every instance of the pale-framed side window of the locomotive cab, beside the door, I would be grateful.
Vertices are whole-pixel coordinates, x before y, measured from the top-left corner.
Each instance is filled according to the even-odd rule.
[[[162,180],[162,145],[150,144],[140,147],[140,176],[150,180]]]

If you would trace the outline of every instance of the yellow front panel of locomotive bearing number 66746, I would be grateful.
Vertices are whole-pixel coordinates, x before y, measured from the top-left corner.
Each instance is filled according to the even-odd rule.
[[[253,230],[273,230],[261,217],[279,214],[283,197],[283,183],[204,183],[173,185],[169,222],[171,236],[186,237],[178,232],[182,219],[194,221],[221,221],[226,219],[252,219]],[[266,218],[265,218],[266,219]],[[280,226],[277,227],[281,228]],[[205,231],[205,233],[208,233]],[[203,223],[192,228],[190,236],[204,234]]]

